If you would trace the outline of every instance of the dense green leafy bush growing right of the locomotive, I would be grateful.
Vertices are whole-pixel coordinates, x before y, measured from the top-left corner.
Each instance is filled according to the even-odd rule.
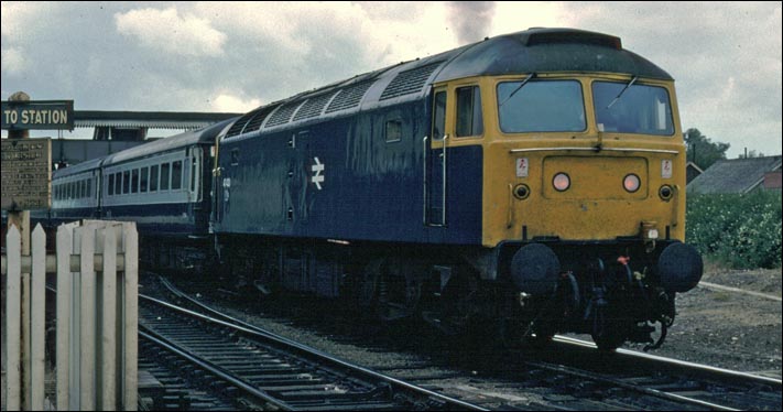
[[[688,195],[686,239],[733,269],[781,267],[781,194]]]

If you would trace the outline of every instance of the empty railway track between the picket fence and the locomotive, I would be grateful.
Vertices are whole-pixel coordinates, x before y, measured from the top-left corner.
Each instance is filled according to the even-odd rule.
[[[248,408],[483,410],[261,330],[140,297],[141,337],[186,360],[198,371],[189,375],[206,376],[208,386],[241,394]]]

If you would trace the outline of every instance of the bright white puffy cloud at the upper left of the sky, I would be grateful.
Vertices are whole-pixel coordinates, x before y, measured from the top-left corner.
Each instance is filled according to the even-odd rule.
[[[186,56],[217,56],[224,53],[226,34],[209,20],[180,15],[177,9],[139,9],[115,14],[117,30],[135,37],[149,48]]]

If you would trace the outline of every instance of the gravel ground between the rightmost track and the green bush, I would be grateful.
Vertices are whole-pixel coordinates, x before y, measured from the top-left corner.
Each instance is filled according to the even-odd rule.
[[[655,355],[781,378],[781,270],[707,268],[699,285],[677,295],[677,317]]]

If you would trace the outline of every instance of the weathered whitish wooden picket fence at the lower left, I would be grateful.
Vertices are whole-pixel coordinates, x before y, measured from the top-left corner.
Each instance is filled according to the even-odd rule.
[[[17,227],[9,228],[2,257],[7,410],[44,410],[46,273],[56,273],[57,410],[135,410],[135,224],[62,225],[53,256],[46,254],[40,225],[32,234],[31,256],[21,254],[21,242]]]

